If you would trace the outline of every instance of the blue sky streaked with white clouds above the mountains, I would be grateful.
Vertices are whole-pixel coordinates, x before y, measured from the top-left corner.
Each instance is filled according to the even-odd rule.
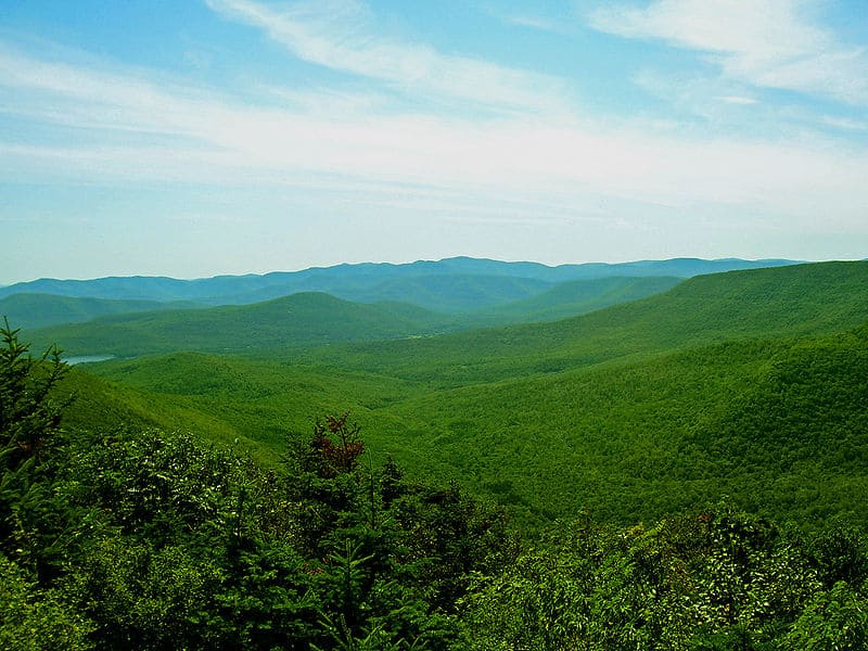
[[[0,284],[868,257],[868,0],[0,0]]]

